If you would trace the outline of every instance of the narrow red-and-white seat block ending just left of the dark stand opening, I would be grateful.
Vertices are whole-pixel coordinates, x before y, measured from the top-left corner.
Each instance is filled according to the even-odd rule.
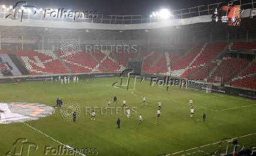
[[[100,61],[109,71],[123,71],[126,66],[120,64],[117,65],[114,61],[113,54],[110,51],[100,51],[99,53],[93,53],[93,55]]]

